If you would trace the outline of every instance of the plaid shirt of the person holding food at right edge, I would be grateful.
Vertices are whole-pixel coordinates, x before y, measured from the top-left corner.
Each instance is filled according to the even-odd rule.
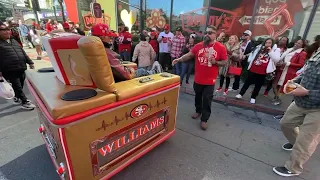
[[[309,90],[307,96],[294,97],[297,106],[305,109],[320,108],[320,52],[309,59],[304,72],[294,82]]]

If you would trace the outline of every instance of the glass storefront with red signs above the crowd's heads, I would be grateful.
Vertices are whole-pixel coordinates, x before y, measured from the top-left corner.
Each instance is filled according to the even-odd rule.
[[[186,33],[202,35],[207,25],[214,25],[228,35],[239,36],[250,29],[256,40],[268,36],[288,36],[292,39],[305,34],[316,1],[232,0],[230,3],[226,0],[163,0],[160,3],[142,0],[141,3],[140,0],[118,0],[117,16],[118,23],[125,24],[123,19],[126,14],[136,14],[132,30],[141,28],[142,19],[144,29],[163,28],[164,24],[171,24],[171,30],[181,26]]]

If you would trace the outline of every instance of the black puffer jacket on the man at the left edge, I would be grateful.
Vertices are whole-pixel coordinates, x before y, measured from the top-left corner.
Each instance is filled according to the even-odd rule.
[[[11,43],[0,40],[0,72],[25,71],[26,64],[33,62],[16,40],[11,39]]]

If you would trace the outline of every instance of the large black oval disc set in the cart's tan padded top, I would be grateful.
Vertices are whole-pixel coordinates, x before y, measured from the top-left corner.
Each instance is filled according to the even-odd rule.
[[[77,89],[63,94],[61,99],[64,101],[80,101],[92,98],[97,94],[97,91],[94,89]]]

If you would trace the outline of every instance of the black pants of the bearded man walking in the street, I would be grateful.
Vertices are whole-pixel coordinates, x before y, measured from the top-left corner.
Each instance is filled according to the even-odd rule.
[[[211,115],[211,102],[214,85],[193,84],[196,112],[201,114],[201,121],[207,122]]]

